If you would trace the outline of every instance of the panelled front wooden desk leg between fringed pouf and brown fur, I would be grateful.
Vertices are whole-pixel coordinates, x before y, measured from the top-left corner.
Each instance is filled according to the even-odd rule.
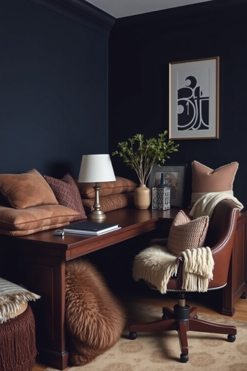
[[[69,362],[65,348],[65,261],[32,256],[25,257],[21,265],[23,283],[41,295],[31,304],[36,321],[37,361],[64,370]]]

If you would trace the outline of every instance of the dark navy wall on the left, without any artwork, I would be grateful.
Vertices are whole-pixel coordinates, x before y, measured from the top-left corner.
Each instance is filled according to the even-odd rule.
[[[77,177],[108,153],[108,37],[28,0],[0,1],[0,35],[0,173]]]

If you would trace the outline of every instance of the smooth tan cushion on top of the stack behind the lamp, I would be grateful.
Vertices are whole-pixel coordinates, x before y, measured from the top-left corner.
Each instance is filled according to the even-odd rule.
[[[95,191],[93,186],[95,183],[78,183],[78,188],[81,198],[94,198]],[[130,179],[116,177],[116,181],[99,183],[101,186],[99,196],[108,196],[109,194],[133,192],[138,185]]]

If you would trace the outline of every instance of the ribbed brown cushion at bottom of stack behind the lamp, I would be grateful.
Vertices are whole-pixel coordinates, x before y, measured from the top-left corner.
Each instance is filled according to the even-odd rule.
[[[82,204],[86,213],[93,210],[94,198],[83,198]],[[101,210],[107,211],[122,209],[127,206],[134,206],[134,192],[110,194],[109,196],[100,197]]]

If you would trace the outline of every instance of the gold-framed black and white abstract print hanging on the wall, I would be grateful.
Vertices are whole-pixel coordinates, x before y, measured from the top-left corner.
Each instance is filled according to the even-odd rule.
[[[219,138],[219,59],[169,63],[169,139]]]

